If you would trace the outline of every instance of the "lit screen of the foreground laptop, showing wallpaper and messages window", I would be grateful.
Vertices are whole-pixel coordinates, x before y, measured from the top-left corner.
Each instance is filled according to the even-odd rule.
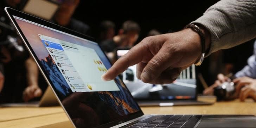
[[[102,81],[111,64],[97,43],[13,18],[76,127],[101,126],[141,113],[119,77]]]

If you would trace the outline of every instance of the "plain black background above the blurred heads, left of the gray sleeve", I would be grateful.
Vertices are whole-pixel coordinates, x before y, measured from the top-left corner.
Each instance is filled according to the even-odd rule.
[[[81,0],[73,17],[90,26],[90,35],[96,37],[97,27],[102,20],[111,20],[116,24],[116,31],[126,20],[134,20],[141,27],[138,41],[143,39],[151,29],[161,33],[181,30],[191,21],[199,18],[218,0],[197,1],[102,1]]]

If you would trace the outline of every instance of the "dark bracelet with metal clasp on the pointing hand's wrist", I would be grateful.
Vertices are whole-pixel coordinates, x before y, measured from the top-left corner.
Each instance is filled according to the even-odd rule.
[[[195,24],[186,25],[184,28],[192,28],[192,30],[195,31],[196,33],[198,33],[199,36],[200,36],[201,46],[202,46],[202,54],[201,54],[200,58],[194,63],[196,66],[199,66],[203,63],[204,56],[205,56],[205,36],[204,36],[204,33],[201,30],[201,28],[198,27]]]

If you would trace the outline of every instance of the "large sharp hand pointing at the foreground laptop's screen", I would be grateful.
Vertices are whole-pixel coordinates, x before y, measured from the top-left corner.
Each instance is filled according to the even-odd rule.
[[[209,47],[209,38],[206,40],[206,47]],[[114,79],[129,66],[137,64],[136,76],[141,81],[153,84],[172,83],[183,69],[196,62],[200,53],[200,37],[190,28],[147,37],[118,59],[102,79]]]

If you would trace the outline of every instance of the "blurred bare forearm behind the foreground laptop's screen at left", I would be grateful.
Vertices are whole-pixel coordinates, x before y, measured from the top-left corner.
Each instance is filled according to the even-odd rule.
[[[38,68],[36,62],[32,57],[28,58],[25,62],[26,71],[27,71],[27,81],[28,86],[38,85]]]

